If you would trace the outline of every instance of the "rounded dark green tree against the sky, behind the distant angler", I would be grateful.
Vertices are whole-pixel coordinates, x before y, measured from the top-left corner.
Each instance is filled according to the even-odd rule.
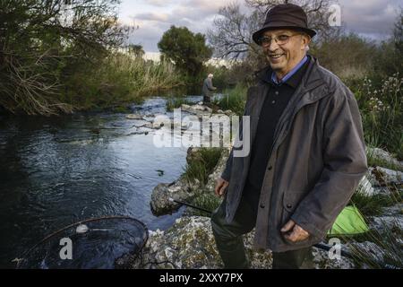
[[[196,76],[202,71],[212,50],[206,45],[205,36],[194,34],[186,27],[171,26],[158,43],[162,56],[174,62],[185,74]]]

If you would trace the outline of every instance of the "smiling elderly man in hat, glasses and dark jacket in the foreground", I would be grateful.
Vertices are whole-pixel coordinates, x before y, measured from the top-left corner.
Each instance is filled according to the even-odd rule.
[[[306,55],[315,31],[295,4],[270,9],[253,40],[269,65],[247,92],[251,152],[230,152],[211,226],[227,268],[247,268],[242,235],[269,248],[273,268],[313,267],[320,242],[367,170],[361,117],[339,78]],[[239,128],[239,138],[246,126]],[[242,146],[239,148],[242,149]]]

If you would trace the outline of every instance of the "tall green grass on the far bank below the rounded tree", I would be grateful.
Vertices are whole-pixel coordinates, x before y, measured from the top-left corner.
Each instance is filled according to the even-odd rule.
[[[75,74],[63,100],[78,109],[118,106],[184,83],[174,66],[113,53],[92,71]]]

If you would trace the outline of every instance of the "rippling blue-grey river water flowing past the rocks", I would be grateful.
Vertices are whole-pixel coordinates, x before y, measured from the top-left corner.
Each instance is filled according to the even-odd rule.
[[[188,97],[201,100],[201,97]],[[167,114],[153,97],[133,113]],[[156,217],[152,189],[184,171],[187,149],[157,148],[152,133],[133,134],[124,113],[85,112],[61,117],[0,120],[0,267],[15,266],[47,234],[105,215],[129,215],[164,230],[183,212]]]

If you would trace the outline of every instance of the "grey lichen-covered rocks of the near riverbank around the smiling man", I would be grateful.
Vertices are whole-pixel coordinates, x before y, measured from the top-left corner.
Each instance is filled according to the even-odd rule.
[[[190,148],[187,161],[193,161],[199,149]],[[372,156],[380,162],[389,162],[399,170],[401,161],[388,152],[372,149]],[[216,168],[210,173],[208,183],[190,183],[184,176],[173,183],[161,183],[155,187],[150,206],[153,213],[167,214],[176,211],[180,204],[197,196],[213,196],[215,180],[225,167],[229,150],[223,149]],[[389,165],[388,165],[389,166]],[[357,192],[367,198],[386,195],[396,197],[396,202],[381,207],[382,213],[365,217],[370,235],[361,240],[341,240],[341,249],[355,255],[354,258],[330,259],[327,251],[313,248],[315,268],[373,268],[402,267],[403,204],[401,192],[403,173],[381,166],[372,167],[362,179]],[[176,220],[168,230],[150,230],[150,238],[139,256],[127,256],[116,262],[119,268],[222,268],[210,227],[210,218],[194,216],[192,211]],[[253,232],[244,236],[244,245],[252,268],[271,267],[270,251],[253,249]]]

